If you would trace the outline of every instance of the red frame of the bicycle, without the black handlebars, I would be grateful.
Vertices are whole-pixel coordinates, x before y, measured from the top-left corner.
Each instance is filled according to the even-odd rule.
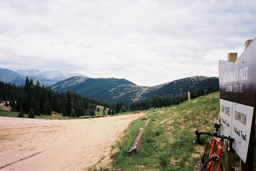
[[[209,153],[209,158],[212,156],[218,156],[219,161],[221,161],[221,154],[222,154],[222,149],[223,149],[223,140],[220,140],[218,137],[214,137],[214,139],[212,139],[212,141],[210,142],[210,144],[208,145],[207,149],[205,150],[204,154],[202,155],[201,159],[200,159],[200,166],[202,166],[204,163],[202,163],[202,158],[204,157],[204,155],[206,154],[206,152],[210,149],[210,153]],[[216,151],[216,154],[214,153],[214,149],[215,149],[215,144],[218,144],[218,149]],[[209,163],[209,165],[207,166],[206,170],[207,171],[212,171],[212,169],[214,168],[215,165],[215,161],[212,163]],[[218,163],[218,170],[220,170],[220,166],[221,166],[221,162]]]

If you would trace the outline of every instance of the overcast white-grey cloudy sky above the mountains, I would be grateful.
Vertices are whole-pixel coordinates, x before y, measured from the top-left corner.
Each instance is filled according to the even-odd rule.
[[[255,1],[3,0],[0,67],[155,86],[218,77],[256,36]]]

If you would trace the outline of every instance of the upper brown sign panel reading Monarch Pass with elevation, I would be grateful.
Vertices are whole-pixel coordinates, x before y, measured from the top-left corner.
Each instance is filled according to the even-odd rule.
[[[252,41],[236,62],[219,61],[220,98],[255,107],[256,41]]]

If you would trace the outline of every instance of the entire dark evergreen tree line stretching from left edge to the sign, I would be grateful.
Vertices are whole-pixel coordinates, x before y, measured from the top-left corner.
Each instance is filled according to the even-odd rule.
[[[218,91],[215,87],[203,87],[193,90],[190,99]],[[113,115],[126,111],[147,110],[150,108],[168,107],[178,105],[187,100],[187,94],[168,97],[155,95],[151,99],[140,100],[127,105],[124,101],[116,103],[102,102],[89,97],[81,96],[81,94],[72,93],[70,90],[58,93],[53,91],[51,87],[40,86],[39,81],[33,83],[33,79],[26,78],[25,85],[16,86],[0,82],[0,101],[10,105],[12,111],[19,112],[19,117],[23,117],[24,113],[29,114],[33,118],[34,115],[51,115],[52,111],[61,113],[62,116],[79,117],[95,115],[95,110],[99,111],[98,106],[103,106],[103,113]],[[9,104],[7,103],[9,101]],[[107,108],[109,108],[107,110]]]

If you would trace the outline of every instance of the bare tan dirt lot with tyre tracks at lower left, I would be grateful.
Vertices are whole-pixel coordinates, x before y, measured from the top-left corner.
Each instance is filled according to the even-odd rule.
[[[0,170],[88,170],[110,164],[110,149],[130,114],[93,119],[45,120],[0,116]]]

